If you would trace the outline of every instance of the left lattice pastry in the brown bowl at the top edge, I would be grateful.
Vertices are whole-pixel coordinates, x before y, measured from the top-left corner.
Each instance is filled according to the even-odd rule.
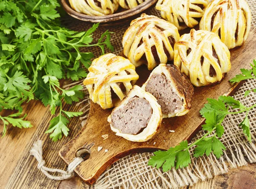
[[[119,7],[117,0],[69,0],[77,12],[90,16],[113,14]]]

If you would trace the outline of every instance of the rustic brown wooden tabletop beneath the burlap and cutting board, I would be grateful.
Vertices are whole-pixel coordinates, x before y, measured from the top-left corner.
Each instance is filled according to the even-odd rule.
[[[64,109],[78,111],[79,107],[65,105]],[[29,155],[33,143],[41,139],[43,144],[43,158],[46,166],[64,169],[67,165],[58,156],[60,148],[73,138],[81,129],[78,118],[70,120],[68,127],[70,134],[58,142],[53,142],[48,134],[44,134],[52,118],[47,107],[41,102],[31,101],[24,105],[27,120],[32,121],[34,127],[19,129],[9,127],[5,137],[0,139],[0,188],[5,189],[80,189],[85,183],[78,176],[66,181],[52,181],[37,169],[37,161]],[[9,112],[4,112],[8,114]],[[0,130],[3,123],[0,122]],[[230,170],[229,173],[216,176],[205,182],[199,182],[189,189],[256,189],[256,164]]]

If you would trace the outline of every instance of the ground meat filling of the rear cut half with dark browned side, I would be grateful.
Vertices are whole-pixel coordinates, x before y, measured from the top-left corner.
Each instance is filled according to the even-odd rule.
[[[162,74],[153,74],[146,85],[146,91],[156,97],[162,112],[165,114],[174,113],[180,110],[183,99],[173,92],[170,82]]]

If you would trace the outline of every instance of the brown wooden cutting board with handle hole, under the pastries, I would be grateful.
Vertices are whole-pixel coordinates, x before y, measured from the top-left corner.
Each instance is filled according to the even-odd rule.
[[[256,29],[250,31],[247,41],[241,47],[234,48],[231,53],[231,70],[224,80],[213,86],[196,87],[192,101],[192,109],[185,116],[164,118],[157,134],[146,142],[131,142],[122,137],[116,136],[111,131],[107,117],[111,110],[102,110],[98,104],[91,102],[90,113],[87,124],[76,137],[68,142],[60,151],[59,155],[67,163],[73,161],[76,152],[88,148],[89,158],[83,161],[75,172],[88,184],[96,182],[97,178],[111,164],[120,158],[136,152],[154,152],[156,150],[167,150],[179,144],[183,140],[191,138],[201,129],[204,118],[199,110],[207,102],[207,98],[218,98],[221,95],[233,95],[242,83],[231,85],[229,79],[240,73],[240,68],[250,68],[250,63],[256,59]],[[136,69],[140,76],[137,85],[146,81],[150,72],[145,66]],[[169,130],[175,130],[174,133]],[[103,140],[102,135],[109,137]],[[103,147],[98,152],[98,147]],[[105,149],[108,152],[105,152]],[[81,152],[81,151],[80,151]]]

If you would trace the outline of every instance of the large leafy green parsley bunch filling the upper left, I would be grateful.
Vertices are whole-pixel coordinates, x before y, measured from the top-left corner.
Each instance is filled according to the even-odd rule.
[[[26,115],[17,116],[21,115],[23,102],[40,99],[45,106],[49,105],[52,114],[59,111],[46,133],[52,133],[53,141],[60,139],[62,133],[67,136],[68,118],[81,112],[64,111],[62,105],[83,98],[83,87],[65,90],[59,80],[77,81],[87,76],[82,65],[89,68],[93,53],[81,52],[79,48],[98,46],[102,54],[105,47],[113,50],[109,31],[93,42],[93,32],[99,24],[82,32],[61,27],[56,11],[59,6],[57,0],[0,0],[0,112],[19,111],[0,116],[3,135],[8,124],[32,127],[23,120]]]

